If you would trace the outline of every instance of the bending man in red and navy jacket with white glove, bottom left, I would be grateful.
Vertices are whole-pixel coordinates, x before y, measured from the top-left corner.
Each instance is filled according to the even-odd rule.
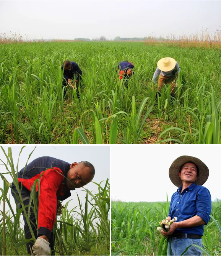
[[[42,176],[41,176],[42,174]],[[21,195],[24,205],[29,204],[31,188],[36,179],[40,177],[40,192],[38,184],[36,187],[39,193],[39,208],[38,208],[38,231],[36,230],[36,218],[31,210],[29,218],[31,227],[36,236],[36,242],[29,242],[27,246],[28,253],[31,254],[29,245],[36,255],[54,255],[54,236],[52,228],[55,223],[57,213],[57,200],[65,200],[70,197],[70,190],[75,190],[92,181],[95,174],[94,166],[87,162],[68,162],[50,156],[43,156],[29,163],[26,168],[18,172],[18,182],[21,189]],[[21,204],[18,202],[16,195],[18,191],[15,185],[11,184],[11,194],[19,208]],[[26,208],[28,212],[28,208]],[[25,238],[32,238],[26,218],[24,217]],[[50,248],[49,248],[50,246]]]

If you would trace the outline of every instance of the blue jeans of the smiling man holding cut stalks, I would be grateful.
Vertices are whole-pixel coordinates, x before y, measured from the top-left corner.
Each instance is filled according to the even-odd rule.
[[[171,254],[170,243],[168,243],[167,255],[181,255],[190,245],[199,245],[202,247],[202,239],[171,237]],[[203,255],[203,252],[201,249],[195,246],[190,246],[190,248],[188,248],[188,250],[183,255]]]

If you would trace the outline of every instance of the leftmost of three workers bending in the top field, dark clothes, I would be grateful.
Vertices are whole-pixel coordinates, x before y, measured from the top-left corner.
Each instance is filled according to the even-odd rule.
[[[76,89],[77,97],[80,98],[79,95],[79,86],[80,86],[80,79],[82,75],[82,71],[78,64],[73,61],[64,61],[62,64],[62,70],[64,69],[63,73],[63,82],[62,86],[66,87],[69,85],[73,89]]]

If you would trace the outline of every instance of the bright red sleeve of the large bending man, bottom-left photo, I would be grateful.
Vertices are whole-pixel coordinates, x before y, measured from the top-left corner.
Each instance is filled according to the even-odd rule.
[[[56,193],[63,181],[63,176],[60,174],[63,175],[63,172],[54,167],[45,171],[40,178],[38,236],[46,235],[50,238],[57,212]]]

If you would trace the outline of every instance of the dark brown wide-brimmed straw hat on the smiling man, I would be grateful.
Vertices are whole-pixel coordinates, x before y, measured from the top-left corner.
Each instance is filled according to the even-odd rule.
[[[180,156],[179,158],[175,159],[175,161],[171,164],[171,167],[169,169],[169,177],[172,183],[177,187],[182,186],[182,181],[180,180],[178,173],[180,167],[186,162],[193,162],[195,165],[197,165],[199,169],[199,174],[197,180],[195,181],[195,184],[203,185],[209,177],[209,169],[204,164],[204,162],[193,156]]]

